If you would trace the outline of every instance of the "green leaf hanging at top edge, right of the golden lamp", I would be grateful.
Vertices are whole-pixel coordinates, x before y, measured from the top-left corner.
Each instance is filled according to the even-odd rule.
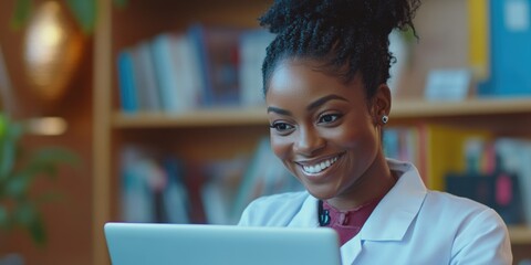
[[[83,33],[92,34],[96,24],[95,0],[66,0],[66,4],[74,14]]]

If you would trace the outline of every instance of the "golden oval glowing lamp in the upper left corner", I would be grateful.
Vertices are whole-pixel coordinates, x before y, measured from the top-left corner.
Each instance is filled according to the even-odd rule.
[[[81,62],[83,35],[56,1],[42,2],[24,40],[24,70],[30,86],[46,102],[65,93]]]

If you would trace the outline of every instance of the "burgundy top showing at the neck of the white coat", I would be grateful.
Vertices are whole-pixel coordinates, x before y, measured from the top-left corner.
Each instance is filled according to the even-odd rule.
[[[325,226],[334,229],[340,235],[341,245],[354,237],[363,224],[367,221],[373,210],[378,205],[382,198],[377,198],[356,209],[350,211],[339,211],[329,203],[323,202],[323,209],[329,211],[330,223]]]

